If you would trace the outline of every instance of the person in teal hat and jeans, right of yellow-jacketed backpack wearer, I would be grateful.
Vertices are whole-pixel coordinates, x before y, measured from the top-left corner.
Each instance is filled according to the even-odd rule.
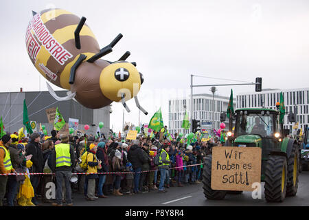
[[[99,142],[98,144],[98,151],[96,153],[98,159],[102,161],[101,166],[102,168],[98,170],[98,173],[108,173],[108,158],[106,152],[106,144],[105,142]],[[103,186],[106,181],[106,174],[99,174],[99,183],[98,183],[98,197],[99,198],[107,198],[103,195]]]

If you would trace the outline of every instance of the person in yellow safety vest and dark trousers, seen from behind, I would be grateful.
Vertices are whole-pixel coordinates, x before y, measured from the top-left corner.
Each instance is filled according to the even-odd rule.
[[[65,199],[67,206],[73,206],[71,197],[70,177],[72,168],[76,165],[74,148],[69,144],[67,135],[60,135],[60,144],[56,144],[49,155],[49,167],[56,173],[56,203],[52,206],[62,206],[62,182],[65,181]],[[47,162],[48,163],[48,162]]]

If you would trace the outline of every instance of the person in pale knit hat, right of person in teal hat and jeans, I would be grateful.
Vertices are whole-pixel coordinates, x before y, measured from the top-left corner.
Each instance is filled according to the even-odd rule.
[[[114,175],[115,188],[113,191],[113,195],[123,195],[120,192],[120,184],[122,180],[121,179],[122,175],[119,173],[124,172],[125,168],[122,164],[122,153],[117,149],[115,151],[115,156],[113,157],[113,170],[115,173],[117,173]]]

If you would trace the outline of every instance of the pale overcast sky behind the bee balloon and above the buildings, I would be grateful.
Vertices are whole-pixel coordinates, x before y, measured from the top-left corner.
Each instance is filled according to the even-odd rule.
[[[159,107],[168,124],[168,98],[190,91],[190,74],[254,82],[265,88],[304,88],[309,83],[309,1],[1,1],[0,92],[47,91],[46,80],[27,55],[25,30],[32,10],[62,8],[87,18],[100,47],[124,37],[104,58],[129,50],[144,74],[139,102],[149,122]],[[40,83],[41,81],[41,83]],[[194,78],[194,84],[229,83]],[[231,82],[232,83],[232,82]],[[55,90],[61,90],[53,85]],[[194,93],[210,93],[209,87]],[[231,87],[218,87],[229,96]],[[234,96],[254,86],[233,87]],[[168,94],[167,96],[164,94]],[[134,100],[125,121],[138,122]],[[111,127],[122,127],[122,104],[113,103]]]

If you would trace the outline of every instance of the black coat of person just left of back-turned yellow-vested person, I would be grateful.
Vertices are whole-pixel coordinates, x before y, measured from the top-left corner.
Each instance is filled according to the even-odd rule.
[[[33,162],[32,172],[43,173],[44,159],[41,145],[34,141],[31,141],[29,144],[27,144],[26,155],[30,154],[32,154],[31,161]]]

